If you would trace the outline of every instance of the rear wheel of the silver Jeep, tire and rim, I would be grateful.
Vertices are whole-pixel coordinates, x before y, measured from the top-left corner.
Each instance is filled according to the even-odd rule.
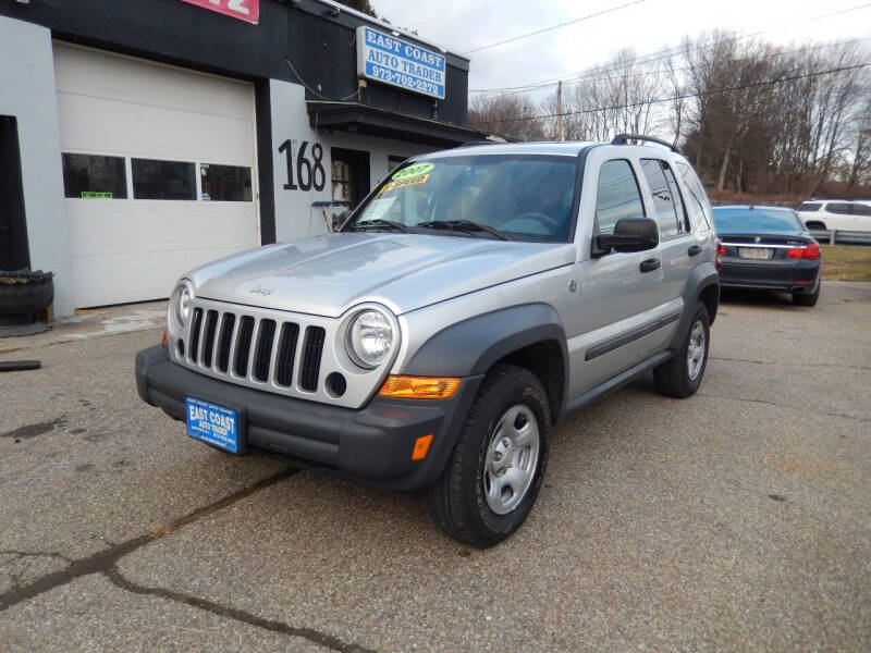
[[[708,365],[710,333],[708,310],[700,305],[674,358],[653,368],[658,391],[679,399],[696,394]]]

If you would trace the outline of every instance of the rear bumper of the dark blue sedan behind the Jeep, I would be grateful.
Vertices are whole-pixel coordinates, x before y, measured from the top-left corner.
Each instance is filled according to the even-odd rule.
[[[720,285],[724,288],[812,293],[820,283],[820,259],[748,261],[721,258]]]

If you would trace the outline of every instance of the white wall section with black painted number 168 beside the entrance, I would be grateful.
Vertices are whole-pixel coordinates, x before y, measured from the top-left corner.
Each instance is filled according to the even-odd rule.
[[[272,118],[272,161],[273,183],[275,189],[275,238],[294,241],[327,231],[327,223],[320,208],[312,208],[315,201],[332,199],[330,175],[330,149],[340,147],[369,152],[370,187],[375,187],[387,174],[389,157],[412,157],[437,148],[415,145],[402,140],[363,136],[348,132],[329,133],[311,128],[306,111],[305,89],[298,84],[290,84],[270,79],[269,83],[271,118]],[[287,183],[287,163],[285,152],[279,147],[285,141],[293,144],[293,161],[303,141],[308,141],[306,155],[311,160],[311,150],[316,143],[323,148],[323,170],[326,183],[318,192],[314,185],[309,190],[285,189]],[[294,165],[295,168],[295,165]],[[294,182],[298,182],[295,178]],[[298,183],[297,183],[298,185]]]

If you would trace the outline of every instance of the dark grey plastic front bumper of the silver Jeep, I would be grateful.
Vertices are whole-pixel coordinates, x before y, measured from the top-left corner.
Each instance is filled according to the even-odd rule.
[[[482,377],[463,379],[450,399],[372,398],[355,410],[253,390],[172,362],[160,345],[136,355],[136,387],[144,402],[184,420],[192,396],[238,411],[243,447],[292,458],[348,480],[389,490],[414,490],[438,479]],[[433,433],[424,460],[415,441]],[[244,451],[244,448],[243,448]]]

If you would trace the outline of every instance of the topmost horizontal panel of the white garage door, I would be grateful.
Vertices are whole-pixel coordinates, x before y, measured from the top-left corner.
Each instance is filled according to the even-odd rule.
[[[248,85],[54,41],[59,93],[249,120]],[[172,88],[171,94],[167,88]]]

